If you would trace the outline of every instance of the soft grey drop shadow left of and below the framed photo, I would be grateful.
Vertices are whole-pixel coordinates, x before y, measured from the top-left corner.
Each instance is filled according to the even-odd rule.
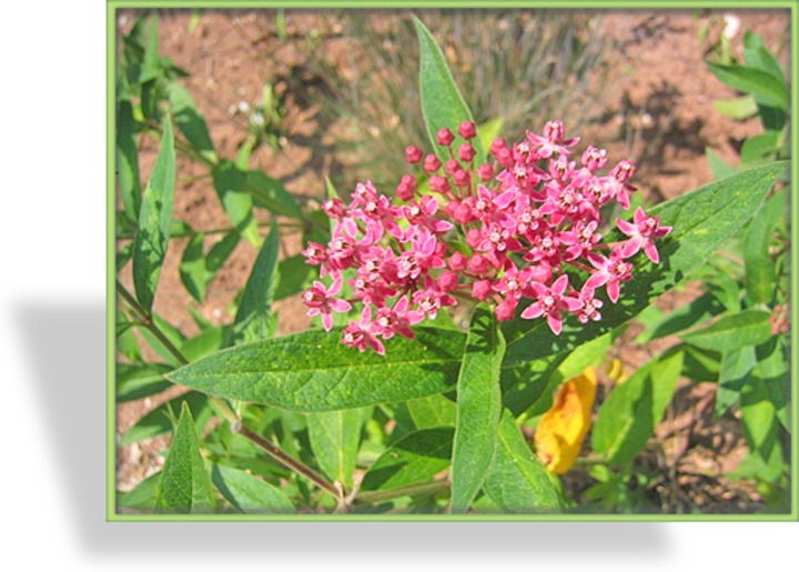
[[[59,466],[54,486],[69,499],[68,526],[89,556],[227,559],[271,551],[293,558],[313,554],[384,556],[403,545],[414,555],[469,556],[502,550],[505,554],[565,554],[579,539],[590,554],[663,555],[670,551],[663,523],[120,523],[105,521],[105,309],[98,301],[16,304],[13,320],[23,338],[33,373],[41,423],[50,435],[40,454]],[[43,353],[47,349],[47,355]],[[313,539],[310,541],[310,539]],[[355,540],[357,539],[357,540]],[[495,539],[495,540],[487,540]],[[499,542],[500,541],[500,542]]]

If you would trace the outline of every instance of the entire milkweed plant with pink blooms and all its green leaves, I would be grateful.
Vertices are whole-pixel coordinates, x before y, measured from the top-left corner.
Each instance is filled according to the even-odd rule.
[[[648,510],[629,478],[657,481],[636,459],[680,378],[717,383],[717,414],[742,412],[744,476],[785,490],[785,152],[646,205],[633,161],[557,118],[530,118],[518,141],[486,137],[416,19],[429,141],[407,142],[394,188],[340,194],[328,182],[303,201],[250,169],[252,149],[220,157],[185,72],[158,54],[156,26],[135,21],[118,70],[117,265],[121,277],[131,263],[133,288],[118,278],[117,401],[184,392],[121,435],[120,446],[172,436],[163,466],[118,493],[118,516]],[[748,42],[747,63],[710,66],[734,87],[747,66],[767,69],[750,97],[772,133],[787,84]],[[140,134],[160,141],[143,192]],[[208,169],[233,223],[210,249],[172,220],[175,149]],[[265,239],[254,209],[272,215]],[[300,223],[301,254],[280,255],[279,217]],[[259,247],[231,324],[195,315],[186,338],[153,311],[176,237],[190,239],[180,272],[199,302],[241,240]],[[650,305],[710,275],[687,310]],[[276,335],[272,304],[295,294],[314,325]],[[611,374],[596,403],[597,369],[634,319],[643,341],[679,342]],[[579,499],[564,481],[578,465],[593,479]]]

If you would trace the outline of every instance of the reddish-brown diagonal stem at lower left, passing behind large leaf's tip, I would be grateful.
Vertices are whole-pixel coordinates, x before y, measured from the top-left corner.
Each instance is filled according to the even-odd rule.
[[[136,302],[135,298],[133,298],[133,295],[128,291],[124,284],[122,284],[122,282],[120,282],[119,280],[117,280],[117,291],[124,299],[128,305],[130,305],[131,310],[133,310],[133,313],[135,314],[134,318],[141,323],[141,325],[150,330],[153,335],[155,335],[155,338],[158,338],[158,340],[164,344],[164,347],[170,351],[170,353],[175,357],[175,359],[181,363],[181,365],[188,364],[189,360],[185,359],[185,355],[183,355],[183,353],[181,353],[181,351],[175,348],[172,342],[169,341],[166,335],[164,335],[161,329],[155,324],[155,322],[153,322],[152,314],[144,310],[141,304],[139,304],[139,302]],[[227,405],[227,403],[223,399],[214,395],[209,395],[209,398],[231,424],[231,430],[234,433],[240,433],[241,435],[245,436],[254,444],[266,451],[277,462],[285,465],[295,473],[305,476],[309,481],[314,483],[320,489],[331,493],[338,500],[340,503],[343,502],[343,491],[336,488],[335,484],[327,481],[324,476],[322,476],[301,461],[291,456],[280,446],[272,443],[270,440],[253,432],[249,427],[242,423],[241,419],[239,419],[235,412],[230,408],[230,405]]]

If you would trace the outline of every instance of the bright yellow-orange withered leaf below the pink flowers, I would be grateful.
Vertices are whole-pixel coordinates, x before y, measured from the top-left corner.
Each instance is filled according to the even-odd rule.
[[[553,407],[542,417],[534,442],[548,471],[565,473],[577,459],[590,427],[596,387],[596,371],[588,368],[560,385]]]

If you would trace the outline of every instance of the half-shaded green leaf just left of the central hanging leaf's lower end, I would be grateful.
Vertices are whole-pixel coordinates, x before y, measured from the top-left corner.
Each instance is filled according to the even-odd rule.
[[[455,430],[423,429],[388,448],[366,472],[364,491],[396,489],[427,481],[449,466]]]

